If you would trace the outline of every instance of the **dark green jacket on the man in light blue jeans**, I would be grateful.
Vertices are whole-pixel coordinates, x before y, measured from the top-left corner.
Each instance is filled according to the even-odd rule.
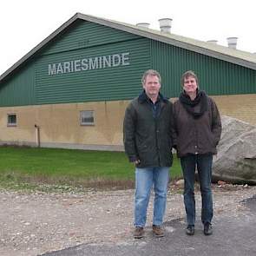
[[[123,122],[123,142],[129,161],[140,160],[137,167],[170,167],[172,165],[171,131],[173,105],[159,95],[157,115],[153,115],[145,92],[129,103]]]

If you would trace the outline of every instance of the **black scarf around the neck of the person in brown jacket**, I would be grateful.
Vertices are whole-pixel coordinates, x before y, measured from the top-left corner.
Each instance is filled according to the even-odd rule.
[[[207,94],[204,91],[197,90],[196,97],[194,101],[192,101],[183,91],[180,95],[180,101],[184,108],[186,108],[187,112],[190,115],[193,115],[194,118],[198,118],[203,115],[207,111]],[[194,110],[194,107],[200,104],[200,108],[198,111]]]

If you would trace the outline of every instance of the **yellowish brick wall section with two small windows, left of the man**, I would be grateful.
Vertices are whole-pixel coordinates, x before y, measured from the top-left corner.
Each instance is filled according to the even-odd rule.
[[[127,105],[128,102],[119,101],[0,108],[0,142],[36,144],[36,124],[40,127],[42,145],[71,143],[120,146]],[[95,125],[80,125],[81,110],[95,111]],[[16,114],[16,127],[7,126],[7,114],[10,113]]]

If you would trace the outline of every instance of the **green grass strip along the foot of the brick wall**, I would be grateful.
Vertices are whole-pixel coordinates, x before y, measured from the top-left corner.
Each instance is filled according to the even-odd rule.
[[[0,147],[0,186],[38,184],[133,187],[134,166],[122,152]],[[172,179],[181,177],[174,155]]]

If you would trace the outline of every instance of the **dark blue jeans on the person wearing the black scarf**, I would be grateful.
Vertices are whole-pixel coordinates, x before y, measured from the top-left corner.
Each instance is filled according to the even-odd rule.
[[[212,182],[212,154],[188,154],[181,157],[181,167],[183,171],[184,204],[187,213],[187,225],[194,225],[195,221],[195,201],[194,201],[194,172],[198,170],[200,181],[200,194],[202,198],[201,221],[203,224],[211,223],[213,219],[213,196],[211,189]]]

